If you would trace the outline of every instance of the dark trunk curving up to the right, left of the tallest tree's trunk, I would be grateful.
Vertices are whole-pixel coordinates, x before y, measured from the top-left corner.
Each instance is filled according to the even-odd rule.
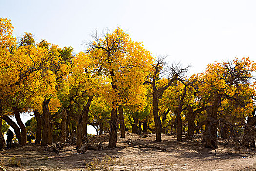
[[[83,106],[83,110],[82,110],[82,112],[80,112],[79,117],[78,117],[76,149],[79,149],[82,147],[82,138],[83,138],[83,132],[82,132],[83,122],[82,121],[83,121],[84,117],[88,118],[89,108],[90,108],[92,100],[93,100],[93,95],[89,96],[86,105]],[[84,124],[87,125],[87,121]]]

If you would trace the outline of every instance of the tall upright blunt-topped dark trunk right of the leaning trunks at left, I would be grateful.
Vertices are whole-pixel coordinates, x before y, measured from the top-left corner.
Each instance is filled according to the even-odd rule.
[[[49,121],[50,121],[50,111],[49,111],[49,102],[51,99],[45,99],[42,104],[43,108],[43,122],[42,122],[42,146],[47,146],[48,144],[48,130],[49,130]]]

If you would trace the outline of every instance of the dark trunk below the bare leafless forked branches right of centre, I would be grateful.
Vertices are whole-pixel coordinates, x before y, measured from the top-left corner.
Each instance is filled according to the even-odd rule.
[[[158,91],[153,91],[153,116],[154,116],[154,122],[155,122],[155,128],[156,128],[156,141],[161,142],[161,129],[162,124],[160,117],[158,115],[159,107],[158,107]]]

